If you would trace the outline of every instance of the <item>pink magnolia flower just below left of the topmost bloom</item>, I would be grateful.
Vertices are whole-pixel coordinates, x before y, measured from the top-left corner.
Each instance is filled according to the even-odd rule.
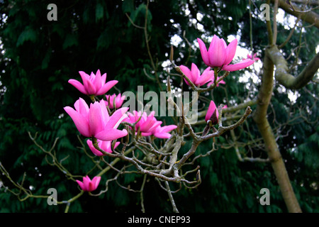
[[[211,70],[211,67],[206,68],[206,70],[203,71],[203,74],[198,70],[197,65],[194,63],[191,63],[191,70],[189,70],[188,67],[184,65],[180,65],[179,68],[181,69],[181,72],[183,72],[186,77],[188,77],[195,86],[202,86],[203,84],[206,84],[211,80],[211,77],[214,75],[214,71]],[[184,78],[187,85],[189,85],[189,82]]]

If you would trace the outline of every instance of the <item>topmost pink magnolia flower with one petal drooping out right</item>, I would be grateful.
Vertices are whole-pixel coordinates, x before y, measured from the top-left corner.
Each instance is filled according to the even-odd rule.
[[[254,63],[254,60],[247,59],[234,65],[229,65],[235,56],[237,39],[227,45],[223,38],[218,38],[217,35],[214,35],[208,50],[203,40],[197,38],[197,41],[203,62],[209,67],[219,67],[225,71],[236,71],[242,70]]]

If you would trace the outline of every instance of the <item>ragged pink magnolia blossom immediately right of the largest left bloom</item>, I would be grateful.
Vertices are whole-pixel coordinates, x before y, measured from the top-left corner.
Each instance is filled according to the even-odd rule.
[[[162,121],[157,121],[155,111],[152,111],[148,116],[146,112],[133,111],[133,114],[128,113],[128,118],[124,121],[135,123],[135,131],[140,130],[142,136],[154,135],[157,138],[169,138],[171,135],[168,132],[177,128],[174,125],[160,126]]]

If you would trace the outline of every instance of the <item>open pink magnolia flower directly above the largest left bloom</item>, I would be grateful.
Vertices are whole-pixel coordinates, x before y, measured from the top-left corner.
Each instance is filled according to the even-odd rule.
[[[106,73],[101,76],[100,70],[97,70],[96,74],[91,72],[91,75],[82,71],[79,71],[79,74],[82,77],[83,84],[76,79],[69,79],[69,83],[77,88],[80,92],[87,95],[98,96],[106,94],[109,89],[118,83],[117,80],[111,80],[106,83]]]

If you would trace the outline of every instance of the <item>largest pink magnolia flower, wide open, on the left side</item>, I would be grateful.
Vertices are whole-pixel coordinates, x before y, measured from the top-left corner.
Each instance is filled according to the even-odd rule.
[[[108,115],[106,105],[103,100],[96,101],[89,106],[84,99],[79,98],[74,108],[65,106],[65,111],[72,118],[77,130],[86,137],[99,140],[116,140],[128,134],[125,129],[118,130],[118,126],[127,117],[125,114],[128,107],[123,107],[115,111],[112,116]]]

